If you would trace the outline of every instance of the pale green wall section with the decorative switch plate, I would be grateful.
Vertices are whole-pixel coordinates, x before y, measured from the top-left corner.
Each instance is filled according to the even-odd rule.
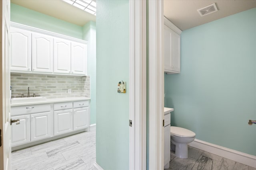
[[[96,162],[104,170],[129,169],[129,1],[97,0]]]

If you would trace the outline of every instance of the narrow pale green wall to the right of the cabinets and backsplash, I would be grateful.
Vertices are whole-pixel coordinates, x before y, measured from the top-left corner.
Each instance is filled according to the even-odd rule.
[[[87,72],[90,75],[90,124],[96,123],[96,23],[90,21],[83,26],[83,39],[88,41]]]

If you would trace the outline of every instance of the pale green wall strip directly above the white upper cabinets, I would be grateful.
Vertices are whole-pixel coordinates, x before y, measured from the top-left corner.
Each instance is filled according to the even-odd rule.
[[[11,21],[82,39],[82,27],[11,3]]]

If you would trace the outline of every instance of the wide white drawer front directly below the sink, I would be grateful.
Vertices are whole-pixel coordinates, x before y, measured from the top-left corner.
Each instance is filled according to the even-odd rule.
[[[50,111],[50,104],[44,105],[28,105],[28,106],[19,106],[11,108],[11,115],[26,115],[31,113],[42,113],[46,111]]]

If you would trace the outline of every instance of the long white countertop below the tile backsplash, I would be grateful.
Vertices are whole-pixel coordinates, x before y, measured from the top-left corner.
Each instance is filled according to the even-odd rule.
[[[13,107],[13,106],[24,106],[24,105],[35,105],[35,104],[59,103],[59,102],[74,102],[74,101],[79,101],[79,100],[90,100],[90,98],[74,97],[74,98],[46,99],[46,101],[43,101],[43,102],[26,102],[26,103],[11,104],[11,107]]]

